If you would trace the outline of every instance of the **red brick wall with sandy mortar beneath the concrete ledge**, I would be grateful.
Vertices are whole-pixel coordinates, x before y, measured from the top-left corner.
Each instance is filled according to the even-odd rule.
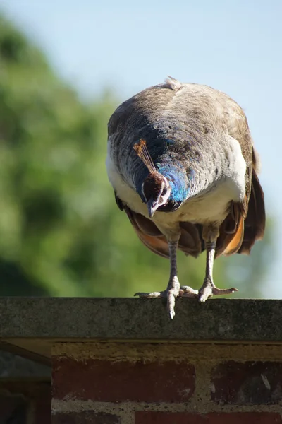
[[[53,424],[282,423],[282,346],[55,343]]]

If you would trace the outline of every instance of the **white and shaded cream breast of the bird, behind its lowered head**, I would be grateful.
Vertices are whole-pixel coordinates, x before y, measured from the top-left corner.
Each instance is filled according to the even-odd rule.
[[[226,142],[214,151],[213,160],[207,160],[209,166],[204,170],[196,170],[202,175],[201,185],[191,196],[173,212],[156,212],[152,220],[156,225],[173,225],[180,221],[190,223],[221,223],[227,215],[231,201],[243,201],[245,196],[246,163],[237,140],[229,137]],[[140,199],[133,185],[118,172],[110,151],[106,159],[109,180],[118,197],[130,209],[149,218],[147,206]],[[217,177],[215,170],[219,169]]]

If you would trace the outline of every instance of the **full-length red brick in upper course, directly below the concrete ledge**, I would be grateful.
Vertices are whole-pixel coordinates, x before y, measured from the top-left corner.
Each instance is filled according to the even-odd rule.
[[[144,363],[53,359],[54,398],[183,402],[195,390],[195,368],[183,361]]]

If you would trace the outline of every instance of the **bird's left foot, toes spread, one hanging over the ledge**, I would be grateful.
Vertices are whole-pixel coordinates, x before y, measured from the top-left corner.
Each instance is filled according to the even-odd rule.
[[[188,285],[181,285],[177,277],[172,278],[168,282],[168,287],[166,290],[161,292],[152,292],[152,293],[135,293],[135,296],[140,298],[166,298],[167,300],[167,310],[168,314],[173,319],[174,315],[174,305],[176,303],[176,298],[195,298],[198,295],[198,290],[188,287]]]

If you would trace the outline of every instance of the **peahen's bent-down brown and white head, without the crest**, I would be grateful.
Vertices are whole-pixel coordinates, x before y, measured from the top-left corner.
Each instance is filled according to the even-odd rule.
[[[142,184],[142,194],[145,197],[149,217],[152,218],[157,209],[167,203],[171,195],[171,187],[164,175],[154,172],[145,178]]]

